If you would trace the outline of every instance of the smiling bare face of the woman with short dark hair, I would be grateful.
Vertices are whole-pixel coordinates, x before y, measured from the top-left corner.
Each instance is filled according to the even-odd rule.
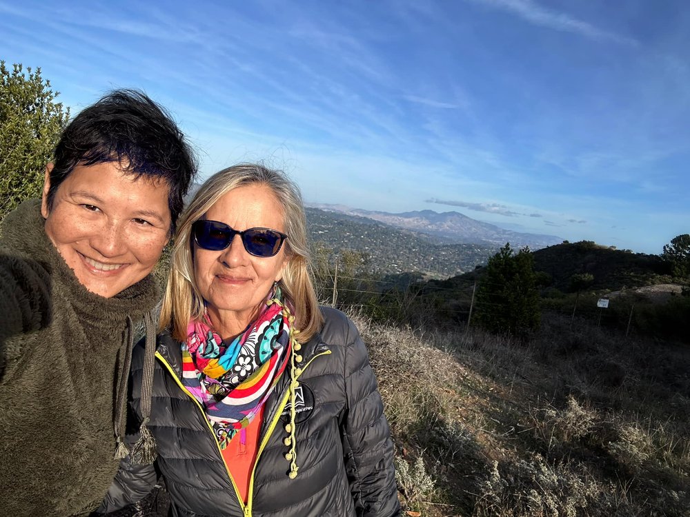
[[[41,205],[46,234],[79,282],[110,298],[148,275],[168,242],[166,182],[136,179],[117,162],[77,165],[48,210],[51,169]]]

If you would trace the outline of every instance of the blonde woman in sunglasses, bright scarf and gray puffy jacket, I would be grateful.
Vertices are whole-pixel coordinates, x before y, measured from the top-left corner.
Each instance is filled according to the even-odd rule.
[[[319,307],[296,185],[218,172],[181,216],[157,349],[132,358],[132,428],[103,510],[164,476],[183,516],[397,515],[393,445],[357,329]],[[132,436],[136,440],[139,436]],[[150,440],[147,440],[147,442]]]

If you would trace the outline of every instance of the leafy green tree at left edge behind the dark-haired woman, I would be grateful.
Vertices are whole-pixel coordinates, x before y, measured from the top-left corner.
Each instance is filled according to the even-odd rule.
[[[41,69],[12,70],[0,61],[0,219],[23,199],[37,197],[70,112]]]

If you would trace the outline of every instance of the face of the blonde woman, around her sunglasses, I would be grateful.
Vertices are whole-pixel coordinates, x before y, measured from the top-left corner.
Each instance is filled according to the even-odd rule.
[[[220,221],[234,230],[264,227],[285,232],[284,215],[266,185],[237,187],[210,207],[203,219]],[[223,338],[242,332],[258,315],[273,283],[288,263],[285,245],[275,256],[248,254],[235,235],[225,250],[204,250],[194,244],[194,274],[208,313]]]

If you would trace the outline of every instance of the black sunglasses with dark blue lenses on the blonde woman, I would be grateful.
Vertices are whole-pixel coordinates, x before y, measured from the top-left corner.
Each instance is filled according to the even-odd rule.
[[[192,234],[199,247],[214,252],[225,250],[235,239],[235,235],[239,235],[244,249],[254,256],[275,255],[280,251],[283,241],[288,238],[286,234],[270,228],[248,228],[244,232],[239,232],[226,223],[205,220],[192,223]]]

